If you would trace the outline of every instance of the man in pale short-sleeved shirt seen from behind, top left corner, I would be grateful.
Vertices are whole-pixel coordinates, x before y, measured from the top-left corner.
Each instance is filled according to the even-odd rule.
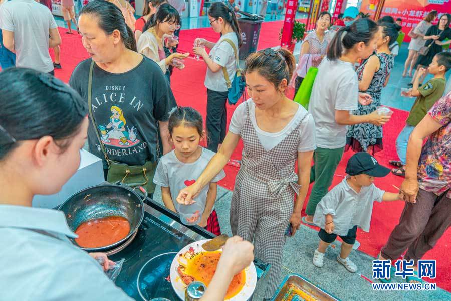
[[[49,48],[61,44],[55,19],[35,0],[10,0],[0,7],[3,44],[16,53],[16,67],[54,74]],[[50,36],[50,37],[49,37]]]

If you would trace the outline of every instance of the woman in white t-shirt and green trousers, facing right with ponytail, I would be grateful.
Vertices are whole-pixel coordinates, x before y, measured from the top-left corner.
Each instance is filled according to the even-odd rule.
[[[358,103],[371,103],[368,94],[359,95],[354,64],[373,53],[380,35],[381,30],[370,19],[358,19],[342,27],[330,43],[327,59],[318,68],[309,103],[316,125],[317,148],[310,174],[310,182],[315,184],[307,204],[307,216],[303,218],[307,224],[313,224],[316,205],[332,184],[346,145],[347,126],[364,122],[382,125],[390,119],[376,112],[363,116],[352,114]]]

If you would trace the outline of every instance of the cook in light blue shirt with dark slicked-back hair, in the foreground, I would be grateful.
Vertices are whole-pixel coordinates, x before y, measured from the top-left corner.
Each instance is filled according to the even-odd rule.
[[[105,276],[112,262],[104,253],[88,255],[71,243],[77,235],[61,211],[32,207],[35,195],[59,192],[77,171],[89,123],[85,102],[62,81],[31,69],[9,68],[0,81],[0,185],[8,187],[0,191],[1,299],[132,301]],[[235,273],[253,260],[252,250],[239,237],[227,241],[205,301],[225,295]]]

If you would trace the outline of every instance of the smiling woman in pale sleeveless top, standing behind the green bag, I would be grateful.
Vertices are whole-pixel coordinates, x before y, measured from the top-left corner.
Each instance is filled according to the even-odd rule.
[[[295,95],[309,68],[318,67],[326,55],[327,46],[335,34],[334,31],[327,31],[330,20],[329,12],[321,12],[316,22],[316,29],[308,34],[302,43],[299,64],[292,77],[292,83],[295,84]]]

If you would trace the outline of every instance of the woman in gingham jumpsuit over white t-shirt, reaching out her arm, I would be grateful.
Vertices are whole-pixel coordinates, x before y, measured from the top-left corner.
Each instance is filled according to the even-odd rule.
[[[255,256],[271,264],[265,298],[272,297],[281,281],[285,231],[290,223],[293,234],[299,229],[316,147],[312,116],[285,96],[294,66],[293,55],[285,49],[268,48],[247,58],[251,99],[236,108],[221,148],[202,175],[177,197],[179,203],[191,204],[243,140],[230,222],[232,233],[253,241]]]

